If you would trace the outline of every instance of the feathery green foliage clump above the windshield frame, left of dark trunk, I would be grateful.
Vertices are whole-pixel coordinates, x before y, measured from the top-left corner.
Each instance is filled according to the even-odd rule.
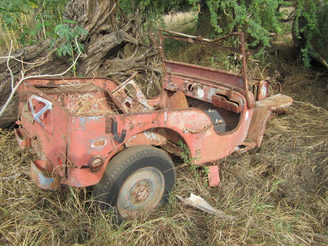
[[[198,0],[190,0],[194,5]],[[277,11],[285,6],[284,0],[208,0],[206,6],[210,13],[210,24],[216,33],[243,31],[248,36],[251,47],[260,47],[262,52],[269,47],[269,33],[282,32],[280,20],[283,12]]]

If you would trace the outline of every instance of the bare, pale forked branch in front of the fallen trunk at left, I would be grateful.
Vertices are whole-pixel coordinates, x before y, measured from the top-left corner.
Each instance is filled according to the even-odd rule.
[[[53,74],[53,75],[47,75],[47,74],[45,74],[45,75],[32,75],[32,76],[24,77],[24,76],[25,76],[25,73],[24,73],[23,71],[21,71],[22,78],[19,80],[19,82],[16,84],[15,87],[13,86],[14,83],[15,83],[15,81],[14,81],[14,76],[12,75],[12,71],[11,71],[11,69],[10,69],[10,67],[9,67],[9,59],[10,59],[10,57],[12,57],[12,56],[11,56],[11,49],[12,49],[12,47],[11,47],[10,52],[9,52],[9,55],[8,55],[8,56],[1,57],[1,58],[7,58],[7,59],[8,59],[8,60],[7,60],[7,66],[8,66],[9,72],[10,72],[11,77],[12,77],[12,92],[10,93],[9,98],[7,99],[5,105],[3,106],[3,108],[2,108],[1,111],[0,111],[0,117],[1,117],[2,114],[5,112],[6,108],[7,108],[8,105],[9,105],[9,103],[10,103],[11,100],[13,99],[13,97],[14,97],[14,95],[15,95],[17,89],[18,89],[18,87],[21,85],[21,83],[22,83],[24,80],[27,80],[27,79],[34,79],[34,78],[40,78],[40,77],[59,77],[59,76],[63,76],[63,75],[66,74],[68,71],[70,71],[70,70],[75,66],[75,64],[76,64],[76,62],[77,62],[77,59],[80,57],[80,55],[81,55],[81,53],[82,53],[81,50],[80,50],[80,48],[79,48],[79,45],[78,45],[78,43],[77,43],[77,36],[75,37],[75,42],[76,42],[76,46],[77,46],[77,48],[78,48],[78,50],[79,50],[79,53],[78,53],[77,57],[75,58],[75,60],[73,61],[73,64],[71,65],[71,67],[69,67],[69,68],[68,68],[67,70],[65,70],[63,73],[60,73],[60,74]]]

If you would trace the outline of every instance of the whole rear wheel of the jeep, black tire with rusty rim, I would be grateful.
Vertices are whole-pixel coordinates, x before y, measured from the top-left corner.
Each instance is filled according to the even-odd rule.
[[[107,164],[92,196],[102,211],[115,207],[119,221],[132,219],[163,205],[175,179],[174,164],[166,152],[153,146],[134,146]]]

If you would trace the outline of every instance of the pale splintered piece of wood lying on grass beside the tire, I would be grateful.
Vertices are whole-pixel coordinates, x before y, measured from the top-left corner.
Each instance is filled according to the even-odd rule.
[[[195,208],[197,208],[201,211],[204,211],[206,213],[209,213],[209,214],[212,214],[212,215],[217,215],[218,217],[220,217],[222,219],[229,219],[229,220],[232,220],[232,221],[239,221],[238,217],[226,214],[223,211],[212,207],[208,202],[206,202],[200,196],[196,196],[192,193],[190,194],[189,198],[182,198],[178,195],[176,195],[176,196],[184,204],[195,207]]]

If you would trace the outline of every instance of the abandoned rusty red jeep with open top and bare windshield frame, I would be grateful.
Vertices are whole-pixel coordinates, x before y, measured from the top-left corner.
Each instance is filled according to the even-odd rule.
[[[236,36],[240,47],[224,45]],[[237,53],[238,73],[168,60],[164,40],[174,39]],[[32,147],[31,176],[42,189],[60,184],[93,186],[101,209],[115,207],[131,219],[165,202],[175,183],[170,153],[188,148],[194,164],[206,166],[209,186],[220,182],[213,163],[260,146],[272,110],[292,103],[269,95],[271,82],[248,80],[243,33],[215,40],[161,30],[162,90],[146,98],[134,81],[108,78],[39,78],[19,88],[21,148]],[[199,151],[201,150],[201,151]],[[217,163],[217,162],[216,162]]]

